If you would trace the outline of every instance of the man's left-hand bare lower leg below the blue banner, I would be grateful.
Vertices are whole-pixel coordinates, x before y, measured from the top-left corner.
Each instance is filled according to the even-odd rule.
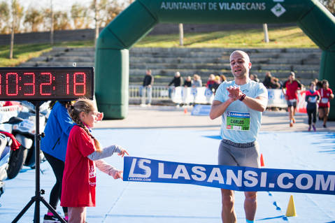
[[[234,210],[234,191],[229,189],[221,189],[222,195],[222,222],[236,223],[236,213]]]

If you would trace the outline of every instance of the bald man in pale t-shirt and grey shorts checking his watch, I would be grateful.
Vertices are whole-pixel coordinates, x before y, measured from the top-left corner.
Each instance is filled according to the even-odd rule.
[[[210,112],[211,119],[222,117],[218,164],[259,168],[257,136],[266,109],[268,92],[261,82],[250,80],[251,63],[246,52],[236,50],[230,55],[234,80],[222,82]],[[236,222],[234,191],[221,189],[222,222]],[[246,222],[254,222],[257,192],[245,192]]]

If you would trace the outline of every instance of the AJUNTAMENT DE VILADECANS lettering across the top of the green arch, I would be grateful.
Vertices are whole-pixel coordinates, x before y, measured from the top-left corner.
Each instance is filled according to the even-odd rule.
[[[266,10],[265,2],[171,2],[162,1],[160,9],[164,10]]]

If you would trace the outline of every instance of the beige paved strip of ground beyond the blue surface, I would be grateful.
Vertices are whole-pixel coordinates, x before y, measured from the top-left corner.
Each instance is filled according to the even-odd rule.
[[[220,129],[221,119],[211,120],[208,116],[191,115],[192,107],[174,106],[129,106],[129,114],[124,120],[105,120],[99,122],[96,129],[152,129],[152,128],[183,128],[183,129]],[[288,113],[268,111],[263,114],[261,131],[307,131],[308,118],[306,114],[297,113],[297,123],[289,127]],[[316,124],[317,131],[335,131],[335,122],[328,122],[327,128],[322,122]]]

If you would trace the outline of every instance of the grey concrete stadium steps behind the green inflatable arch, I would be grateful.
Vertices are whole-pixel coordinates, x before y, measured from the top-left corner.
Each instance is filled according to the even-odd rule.
[[[167,85],[176,71],[183,77],[197,73],[206,83],[208,75],[224,74],[232,79],[229,66],[231,48],[132,48],[129,50],[129,84],[141,84],[145,69],[151,69],[155,85]],[[241,49],[248,52],[251,73],[264,80],[266,71],[286,80],[290,71],[308,85],[318,78],[321,50],[313,48]],[[94,66],[94,48],[53,48],[41,57],[30,59],[20,66]]]

